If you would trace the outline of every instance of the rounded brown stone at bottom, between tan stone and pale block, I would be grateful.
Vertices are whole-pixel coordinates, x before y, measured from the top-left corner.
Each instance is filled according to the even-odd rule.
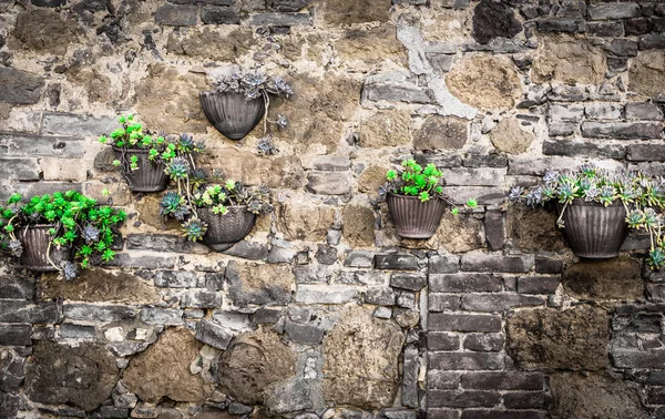
[[[274,382],[296,374],[296,355],[274,331],[238,336],[219,358],[217,380],[236,400],[260,403]]]

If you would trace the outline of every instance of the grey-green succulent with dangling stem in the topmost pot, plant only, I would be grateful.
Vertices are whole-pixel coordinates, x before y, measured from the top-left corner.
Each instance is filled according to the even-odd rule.
[[[280,76],[268,76],[263,72],[253,71],[241,71],[232,75],[218,78],[215,81],[215,90],[219,93],[242,93],[245,95],[245,100],[250,101],[254,99],[263,98],[266,105],[266,112],[264,115],[264,141],[263,145],[259,142],[259,151],[264,151],[265,154],[275,154],[277,149],[274,146],[267,147],[266,143],[272,144],[272,137],[268,137],[268,122],[277,125],[279,130],[285,130],[288,126],[288,119],[278,114],[277,120],[268,120],[268,111],[270,109],[270,94],[289,99],[294,94],[293,88]]]

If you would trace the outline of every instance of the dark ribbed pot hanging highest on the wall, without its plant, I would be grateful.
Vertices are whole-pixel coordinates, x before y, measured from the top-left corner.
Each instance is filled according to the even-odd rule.
[[[211,124],[231,140],[242,140],[266,112],[263,98],[245,100],[243,93],[201,92],[201,106]]]

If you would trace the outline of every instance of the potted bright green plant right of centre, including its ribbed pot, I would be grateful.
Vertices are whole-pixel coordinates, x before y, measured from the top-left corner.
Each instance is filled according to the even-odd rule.
[[[452,206],[452,214],[460,213],[443,194],[443,173],[432,163],[423,167],[412,159],[405,160],[401,170],[388,171],[386,178],[379,196],[388,202],[388,212],[401,237],[430,238],[441,222],[446,204]],[[475,200],[469,200],[464,208],[477,206]]]

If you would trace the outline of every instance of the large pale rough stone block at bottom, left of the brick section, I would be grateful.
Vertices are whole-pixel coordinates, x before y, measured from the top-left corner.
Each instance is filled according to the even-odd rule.
[[[324,339],[324,397],[361,408],[391,406],[399,387],[398,358],[405,336],[392,320],[347,307]]]

